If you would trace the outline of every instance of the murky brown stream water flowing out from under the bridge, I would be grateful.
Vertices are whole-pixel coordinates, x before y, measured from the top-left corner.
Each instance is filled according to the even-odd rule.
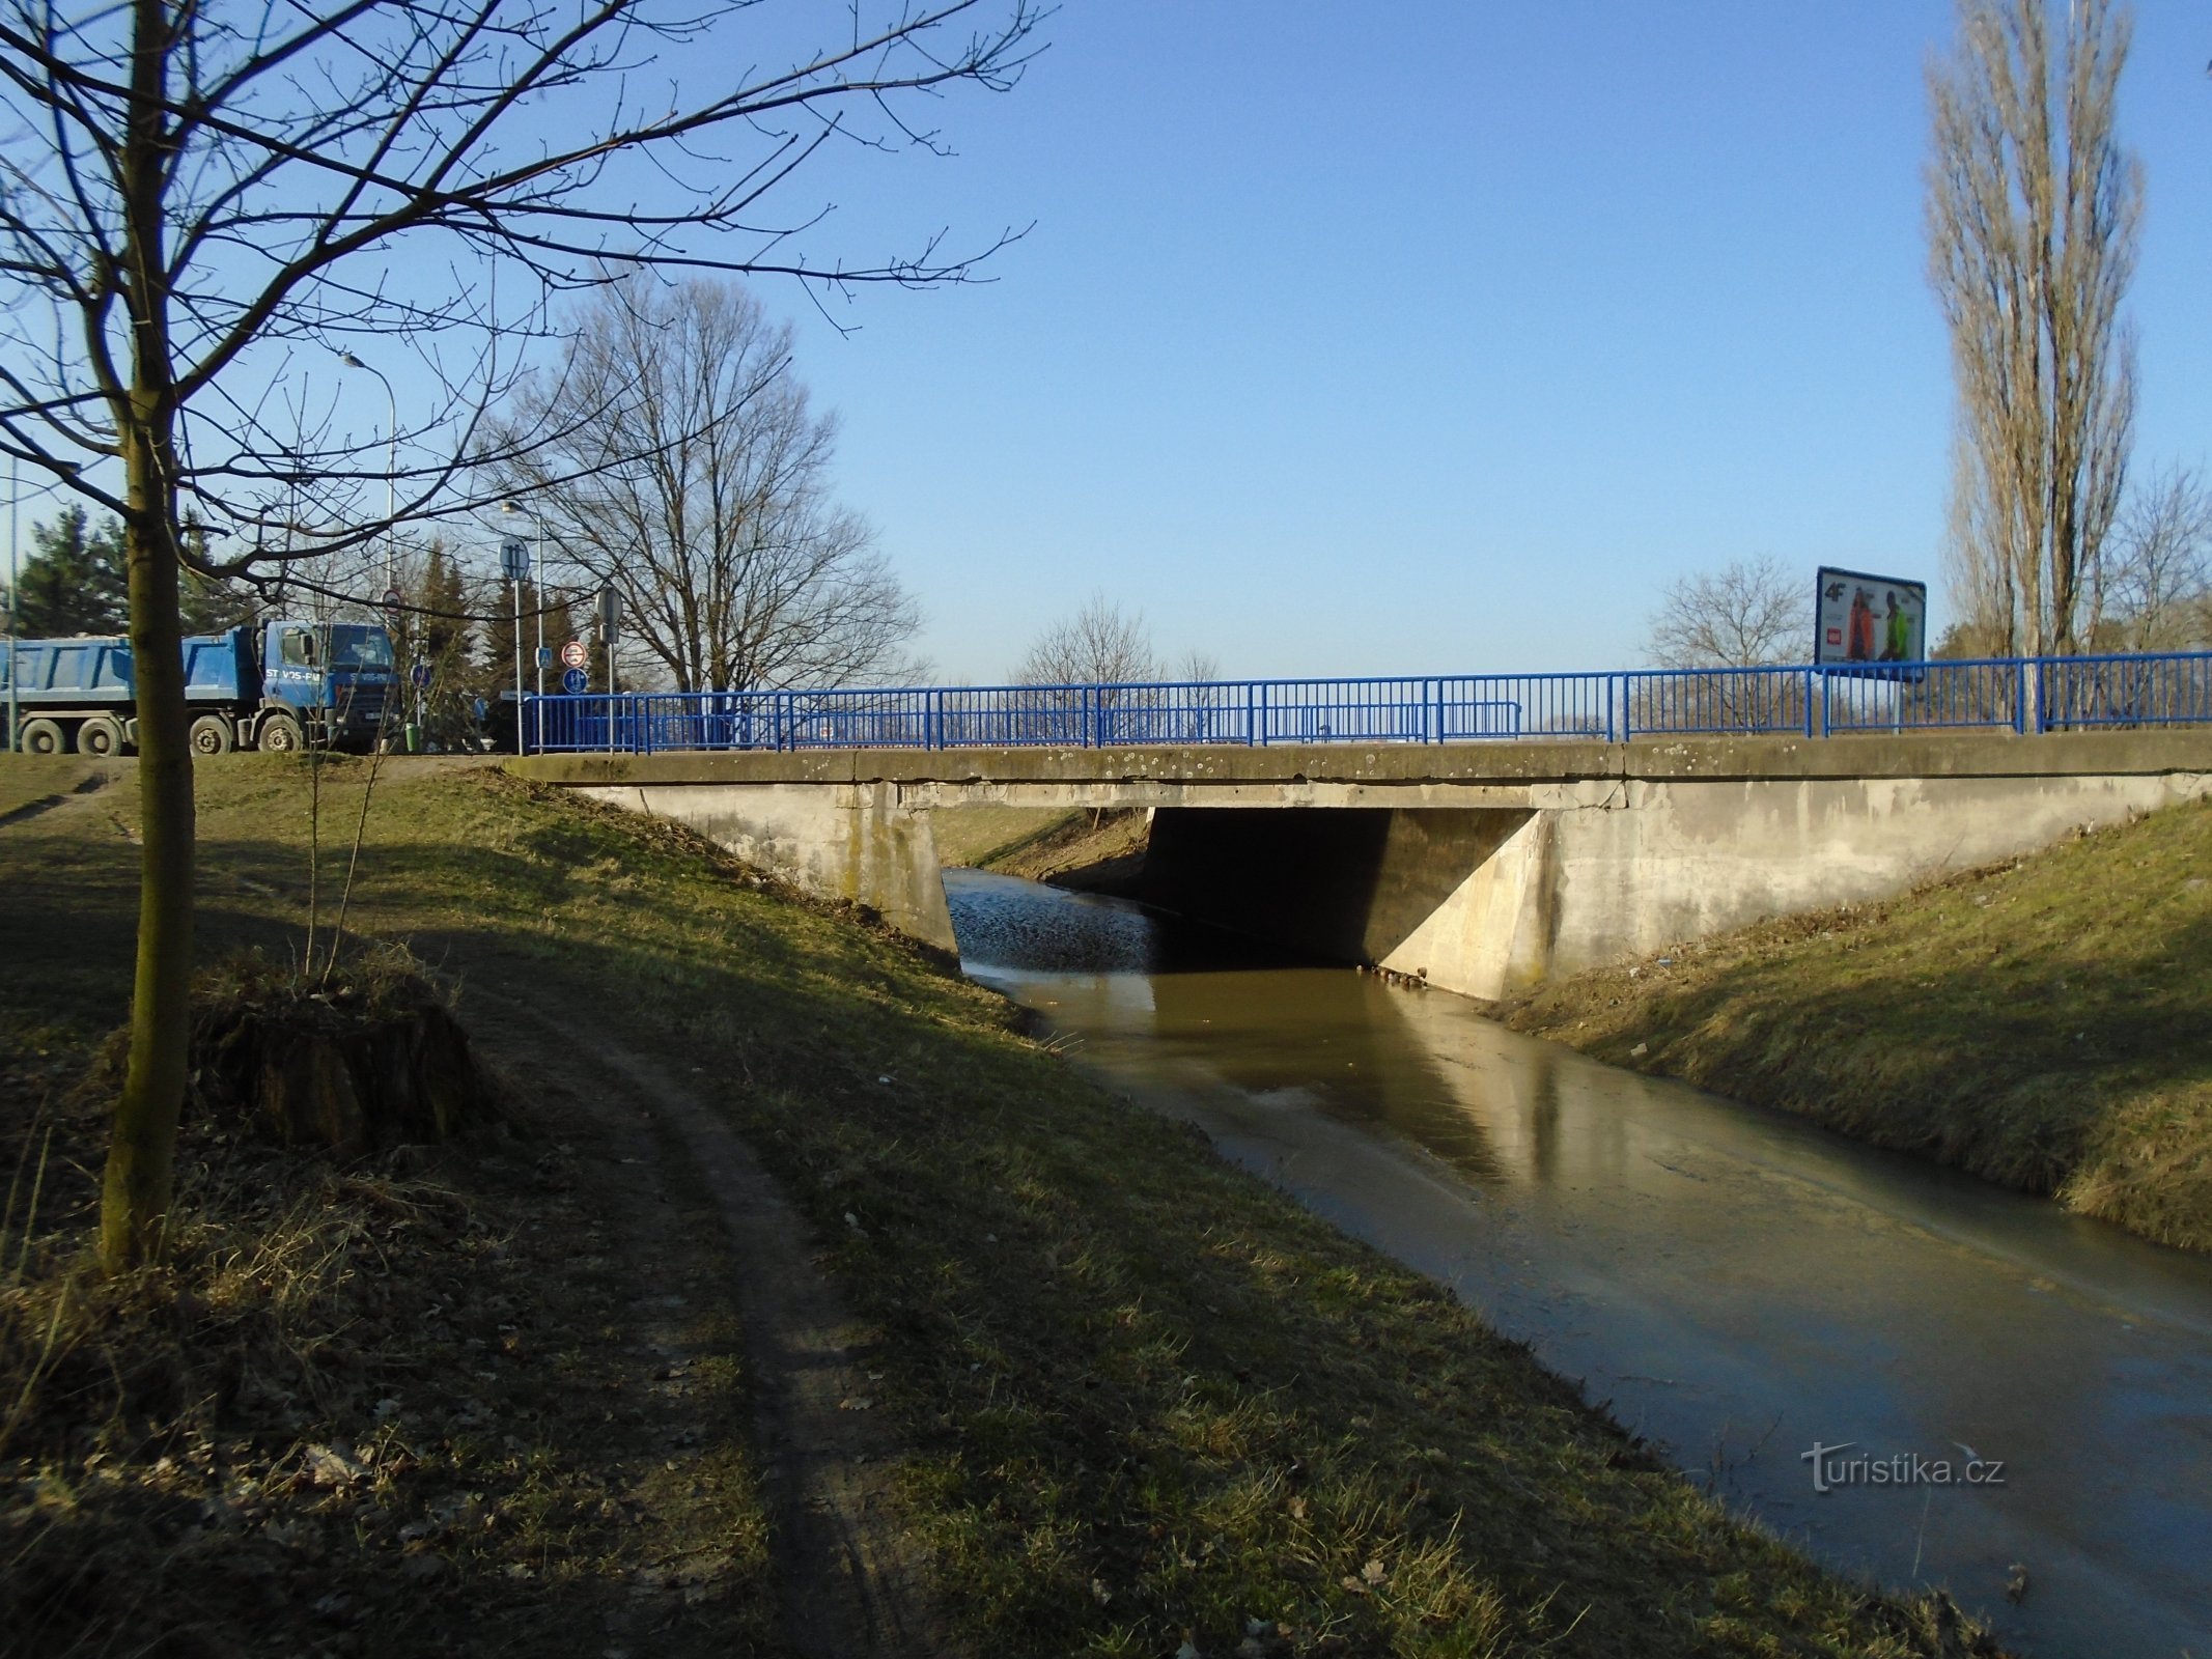
[[[1006,876],[945,887],[969,975],[1084,1066],[1451,1285],[1820,1562],[1944,1586],[2028,1655],[2212,1659],[2212,1261],[1442,991]]]

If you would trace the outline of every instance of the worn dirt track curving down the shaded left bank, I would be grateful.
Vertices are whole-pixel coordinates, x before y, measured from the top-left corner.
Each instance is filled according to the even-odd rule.
[[[730,1241],[745,1329],[754,1455],[774,1520],[785,1637],[823,1659],[945,1652],[891,1493],[896,1440],[872,1413],[867,1334],[814,1259],[805,1221],[745,1141],[664,1064],[582,1024],[540,1013],[471,978],[478,1022],[529,1022],[666,1126],[710,1192]],[[491,1004],[487,1009],[484,1004]],[[635,1119],[624,1128],[635,1135]]]

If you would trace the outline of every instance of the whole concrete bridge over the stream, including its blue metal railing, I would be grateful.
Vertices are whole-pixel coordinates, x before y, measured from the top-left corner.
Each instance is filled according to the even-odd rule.
[[[511,765],[947,949],[938,814],[1139,807],[1139,896],[1478,998],[2212,792],[2212,653],[1924,670],[544,699]],[[1020,741],[958,741],[984,732]]]

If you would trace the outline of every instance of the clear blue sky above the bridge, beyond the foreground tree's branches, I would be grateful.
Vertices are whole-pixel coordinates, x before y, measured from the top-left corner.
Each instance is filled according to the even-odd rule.
[[[1942,0],[1077,0],[843,241],[1035,221],[799,321],[838,478],[995,679],[1093,588],[1232,675],[1637,661],[1674,575],[1938,577],[1922,276]],[[2141,0],[2137,462],[2212,460],[2212,13]],[[805,195],[805,192],[801,192]],[[1940,604],[1938,604],[1940,624]]]

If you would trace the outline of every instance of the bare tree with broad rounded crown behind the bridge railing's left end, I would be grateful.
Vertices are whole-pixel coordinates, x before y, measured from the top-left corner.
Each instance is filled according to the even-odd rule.
[[[905,668],[920,613],[830,498],[836,420],[807,407],[790,325],[737,283],[602,288],[502,427],[533,429],[555,436],[509,445],[524,453],[502,478],[544,513],[549,562],[622,593],[628,637],[677,690]]]

